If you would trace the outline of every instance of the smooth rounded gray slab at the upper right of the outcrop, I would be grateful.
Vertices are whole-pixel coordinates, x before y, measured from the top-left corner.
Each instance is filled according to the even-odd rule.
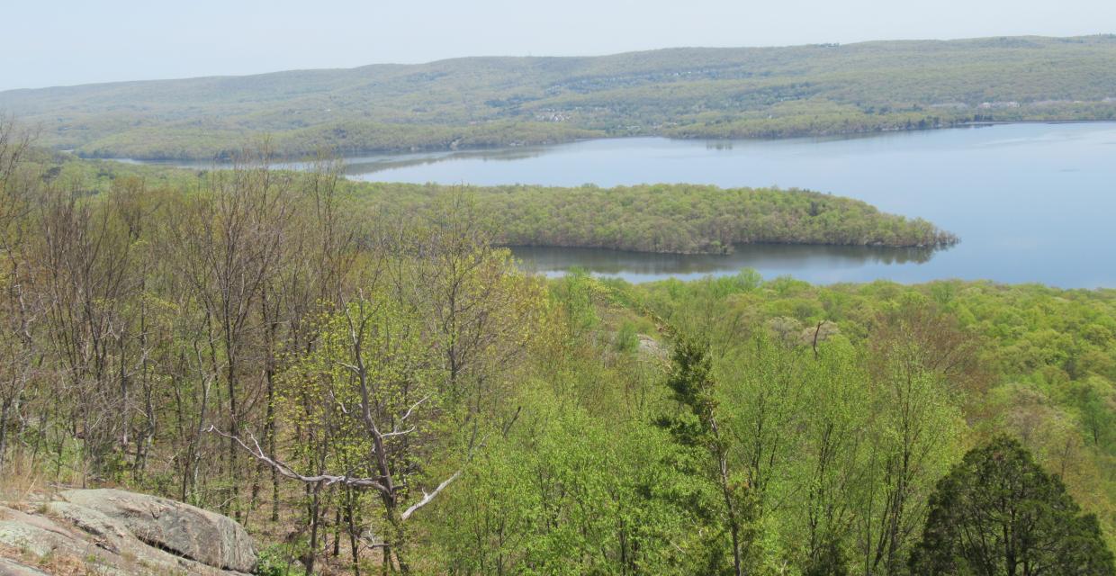
[[[123,490],[67,490],[54,511],[119,547],[131,532],[148,546],[206,566],[249,573],[256,546],[230,518],[190,505]],[[71,506],[62,506],[65,503]]]

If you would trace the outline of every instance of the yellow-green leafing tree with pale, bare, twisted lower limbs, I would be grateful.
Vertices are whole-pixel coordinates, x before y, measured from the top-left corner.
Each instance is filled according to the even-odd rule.
[[[308,484],[314,498],[321,487],[335,484],[377,495],[389,529],[377,546],[404,573],[410,570],[405,522],[461,474],[459,469],[423,491],[422,498],[411,497],[413,478],[421,472],[415,462],[432,445],[430,424],[440,414],[434,358],[424,338],[422,324],[397,303],[382,295],[356,298],[334,315],[319,347],[295,368],[296,386],[317,394],[314,402],[298,405],[305,411],[299,419],[320,442],[315,453],[330,454],[311,459],[310,464],[318,469],[336,464],[345,468],[344,473],[299,472],[253,435],[244,440],[210,428],[278,474]],[[323,447],[326,442],[329,445]],[[353,452],[362,455],[347,458]],[[312,564],[311,556],[307,569]]]

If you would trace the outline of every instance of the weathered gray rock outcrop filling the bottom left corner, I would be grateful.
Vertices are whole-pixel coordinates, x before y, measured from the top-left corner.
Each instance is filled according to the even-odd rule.
[[[68,490],[35,511],[0,506],[0,576],[251,573],[256,548],[233,520],[123,490]]]

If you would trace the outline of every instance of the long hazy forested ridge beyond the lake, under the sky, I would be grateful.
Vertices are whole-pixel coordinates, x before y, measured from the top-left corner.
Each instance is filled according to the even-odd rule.
[[[299,156],[1113,119],[1114,70],[1114,36],[676,48],[9,90],[0,112],[89,156],[209,160],[262,132]]]

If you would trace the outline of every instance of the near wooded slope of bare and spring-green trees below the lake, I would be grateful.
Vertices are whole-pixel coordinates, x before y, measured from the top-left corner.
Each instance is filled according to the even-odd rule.
[[[464,191],[405,221],[336,163],[27,144],[0,126],[6,501],[190,502],[261,575],[1116,573],[1116,291],[548,281]]]

